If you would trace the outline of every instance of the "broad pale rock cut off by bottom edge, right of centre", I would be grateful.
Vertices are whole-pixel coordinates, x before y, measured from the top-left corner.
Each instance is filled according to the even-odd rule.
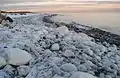
[[[73,72],[70,78],[97,78],[97,77],[85,72]]]

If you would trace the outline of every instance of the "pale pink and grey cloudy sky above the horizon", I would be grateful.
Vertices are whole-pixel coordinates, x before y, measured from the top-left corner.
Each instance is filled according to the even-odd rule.
[[[85,2],[81,2],[85,1]],[[89,1],[89,3],[87,3]],[[118,10],[120,4],[98,4],[90,1],[120,1],[120,0],[1,0],[2,10],[28,10],[41,12],[79,12],[89,10]]]

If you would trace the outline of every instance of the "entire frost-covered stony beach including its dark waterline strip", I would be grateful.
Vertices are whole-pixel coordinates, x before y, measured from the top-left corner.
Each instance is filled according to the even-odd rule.
[[[120,77],[118,35],[57,16],[17,17],[0,27],[1,78]]]

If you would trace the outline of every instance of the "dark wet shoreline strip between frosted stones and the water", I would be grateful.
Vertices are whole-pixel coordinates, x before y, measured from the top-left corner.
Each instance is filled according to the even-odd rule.
[[[57,18],[57,19],[56,19]],[[108,42],[110,44],[116,44],[120,46],[120,35],[113,34],[112,32],[108,32],[99,28],[94,28],[91,26],[83,25],[76,23],[72,20],[60,19],[60,16],[51,15],[43,18],[44,22],[55,24],[56,26],[65,25],[68,29],[73,30],[77,33],[82,32],[87,34],[90,37],[95,38],[98,42]]]

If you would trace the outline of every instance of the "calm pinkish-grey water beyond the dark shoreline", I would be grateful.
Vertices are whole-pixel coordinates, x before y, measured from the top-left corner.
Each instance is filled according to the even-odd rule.
[[[120,35],[120,12],[81,12],[60,13],[67,19],[72,19],[80,24],[97,27]]]

